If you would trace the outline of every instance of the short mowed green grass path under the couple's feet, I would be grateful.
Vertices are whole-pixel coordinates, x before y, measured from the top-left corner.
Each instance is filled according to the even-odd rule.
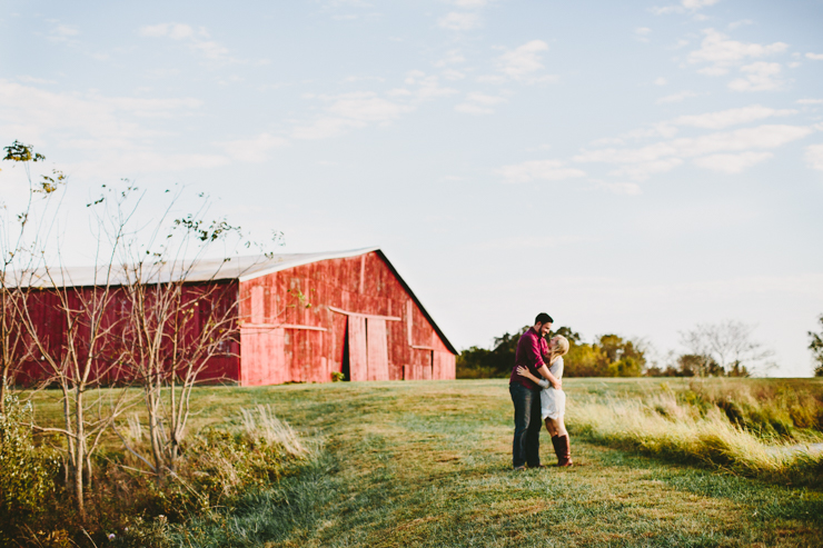
[[[194,524],[192,546],[823,546],[821,492],[587,444],[573,425],[577,466],[513,472],[506,380],[208,388],[195,403],[201,425],[270,405],[324,446],[219,527]],[[554,462],[545,429],[542,455]]]

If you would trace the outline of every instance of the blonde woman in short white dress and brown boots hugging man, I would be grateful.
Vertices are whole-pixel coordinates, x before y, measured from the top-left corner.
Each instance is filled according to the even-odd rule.
[[[568,340],[558,335],[548,343],[548,371],[557,379],[563,377],[563,356],[568,352]],[[568,431],[563,421],[566,415],[566,392],[559,388],[549,386],[545,379],[538,379],[528,369],[518,367],[517,372],[532,381],[541,385],[541,417],[546,421],[546,430],[552,436],[554,452],[557,455],[557,466],[572,466],[572,450],[568,441]]]

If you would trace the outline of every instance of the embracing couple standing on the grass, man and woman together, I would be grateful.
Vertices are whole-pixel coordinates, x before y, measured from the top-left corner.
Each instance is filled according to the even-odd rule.
[[[517,342],[515,363],[508,381],[508,391],[515,407],[515,437],[512,445],[512,466],[515,470],[542,468],[541,428],[552,436],[557,466],[572,466],[568,432],[563,422],[566,414],[566,393],[563,391],[563,356],[568,340],[558,335],[546,342],[552,331],[552,317],[538,313],[535,325]]]

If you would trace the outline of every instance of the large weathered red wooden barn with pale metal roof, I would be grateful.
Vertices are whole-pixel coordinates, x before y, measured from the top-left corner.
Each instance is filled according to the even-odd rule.
[[[67,269],[62,280],[88,291],[95,270]],[[328,382],[335,372],[355,381],[455,378],[457,351],[378,248],[204,260],[186,282],[191,291],[219,287],[210,307],[237,313],[239,337],[210,359],[209,378],[241,386]],[[115,291],[111,315],[120,298]],[[59,340],[51,309],[34,316]]]

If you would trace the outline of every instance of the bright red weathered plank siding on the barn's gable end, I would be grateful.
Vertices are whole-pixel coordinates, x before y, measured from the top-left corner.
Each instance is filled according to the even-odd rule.
[[[310,308],[299,302],[298,292],[305,296]],[[455,378],[455,356],[391,269],[377,252],[370,252],[313,262],[240,283],[240,319],[254,326],[241,329],[242,382],[330,381],[333,372],[343,370],[347,330],[353,326],[356,330],[366,329],[369,320],[353,317],[347,321],[347,316],[329,307],[400,318],[400,321],[385,321],[388,370],[376,370],[369,373],[370,379]],[[325,331],[279,328],[278,325],[308,326]],[[373,329],[379,332],[381,327],[373,323]],[[261,342],[277,337],[282,338],[281,350],[276,345]],[[374,341],[369,346],[374,347]],[[373,351],[384,350],[378,345]]]

